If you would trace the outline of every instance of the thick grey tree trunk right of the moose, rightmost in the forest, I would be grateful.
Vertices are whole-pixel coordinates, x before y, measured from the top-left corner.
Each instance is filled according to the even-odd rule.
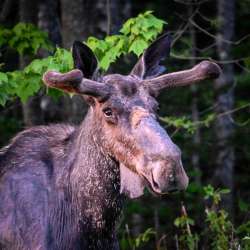
[[[218,0],[219,28],[217,33],[217,52],[220,60],[231,59],[231,41],[234,37],[235,25],[235,1]],[[216,113],[226,113],[234,105],[234,68],[233,64],[223,64],[223,73],[216,80]],[[216,172],[215,182],[223,187],[229,188],[231,193],[223,199],[223,205],[233,215],[233,191],[234,191],[234,147],[232,138],[234,127],[231,114],[219,116],[215,123],[216,135]]]

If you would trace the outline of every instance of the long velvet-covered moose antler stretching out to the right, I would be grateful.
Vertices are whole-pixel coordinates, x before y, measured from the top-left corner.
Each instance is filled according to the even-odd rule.
[[[192,69],[146,79],[143,83],[159,91],[168,87],[186,86],[206,79],[215,79],[219,77],[220,72],[221,68],[216,63],[202,61]]]

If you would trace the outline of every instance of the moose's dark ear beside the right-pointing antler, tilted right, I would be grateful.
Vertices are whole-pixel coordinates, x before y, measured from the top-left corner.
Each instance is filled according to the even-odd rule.
[[[160,36],[145,50],[130,74],[147,79],[163,73],[165,67],[160,62],[169,56],[170,45],[171,38],[168,33]]]

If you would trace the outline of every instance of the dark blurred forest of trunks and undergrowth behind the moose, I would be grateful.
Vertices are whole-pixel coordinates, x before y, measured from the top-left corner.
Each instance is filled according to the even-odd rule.
[[[1,0],[0,146],[25,127],[79,124],[87,111],[80,97],[55,98],[40,85],[24,88],[25,78],[17,78],[22,89],[14,91],[15,75],[6,72],[19,74],[55,47],[70,49],[74,40],[119,34],[126,20],[148,10],[172,36],[168,72],[208,59],[223,73],[161,94],[162,125],[182,150],[190,185],[185,193],[146,192],[128,201],[121,249],[250,249],[250,0]],[[22,31],[20,23],[34,26]],[[118,56],[108,71],[127,74],[138,55]]]

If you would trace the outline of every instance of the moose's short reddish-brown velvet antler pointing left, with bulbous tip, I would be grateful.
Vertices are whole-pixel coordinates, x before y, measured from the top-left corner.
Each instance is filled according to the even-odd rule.
[[[61,89],[70,93],[90,95],[99,100],[106,99],[110,94],[108,85],[84,78],[82,72],[78,69],[67,73],[47,71],[43,75],[43,82],[51,88]]]

